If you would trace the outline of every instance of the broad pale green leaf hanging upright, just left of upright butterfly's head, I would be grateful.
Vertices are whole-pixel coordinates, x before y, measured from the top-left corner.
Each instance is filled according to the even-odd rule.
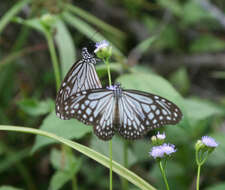
[[[67,26],[58,20],[56,23],[56,45],[59,49],[60,62],[62,67],[62,76],[65,76],[69,68],[73,65],[76,59],[76,50],[73,43],[73,38],[67,29]]]

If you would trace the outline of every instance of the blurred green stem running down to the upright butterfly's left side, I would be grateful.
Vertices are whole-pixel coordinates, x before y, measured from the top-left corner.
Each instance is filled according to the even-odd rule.
[[[46,37],[47,42],[48,42],[48,48],[49,48],[49,51],[50,51],[53,69],[54,69],[54,73],[55,73],[56,89],[58,90],[59,87],[60,87],[59,63],[58,63],[58,59],[57,59],[57,56],[56,56],[56,50],[55,50],[54,41],[53,41],[53,37],[52,37],[51,32],[50,31],[45,32],[45,37]]]

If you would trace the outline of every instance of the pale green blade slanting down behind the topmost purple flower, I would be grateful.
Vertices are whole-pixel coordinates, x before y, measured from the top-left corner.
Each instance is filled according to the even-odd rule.
[[[102,41],[106,39],[103,35],[100,33],[96,33],[96,30],[91,27],[88,23],[82,21],[78,17],[73,16],[72,14],[65,12],[63,14],[63,18],[66,22],[68,22],[71,26],[79,30],[82,34],[86,35],[88,38],[93,39],[94,41]],[[112,46],[113,53],[123,56],[122,52],[113,44],[110,44]]]

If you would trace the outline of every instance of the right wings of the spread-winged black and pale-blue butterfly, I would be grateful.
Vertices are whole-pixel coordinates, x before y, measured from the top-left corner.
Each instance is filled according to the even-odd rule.
[[[176,124],[182,118],[180,109],[160,96],[136,90],[123,90],[118,101],[120,127],[126,139],[138,139],[149,130]]]

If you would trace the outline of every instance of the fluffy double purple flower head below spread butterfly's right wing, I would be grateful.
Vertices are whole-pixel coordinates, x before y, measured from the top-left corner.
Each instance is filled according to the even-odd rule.
[[[170,154],[176,151],[177,150],[175,149],[175,145],[164,143],[160,146],[153,146],[149,154],[154,159],[157,159],[157,158],[162,158],[164,156],[169,156]]]

